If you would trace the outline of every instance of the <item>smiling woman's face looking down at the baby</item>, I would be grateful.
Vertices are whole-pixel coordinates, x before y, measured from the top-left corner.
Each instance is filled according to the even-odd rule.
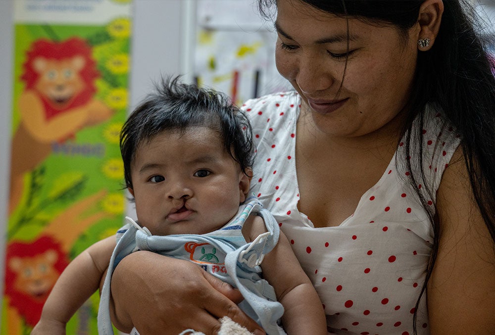
[[[404,40],[393,26],[346,20],[300,0],[278,0],[277,9],[277,69],[319,130],[362,136],[402,110],[414,77],[419,25]]]

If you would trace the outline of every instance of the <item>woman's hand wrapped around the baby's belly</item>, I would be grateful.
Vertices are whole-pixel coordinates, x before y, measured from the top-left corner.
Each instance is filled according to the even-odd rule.
[[[194,329],[217,334],[228,316],[251,332],[261,328],[236,303],[241,293],[198,265],[148,251],[125,257],[112,275],[112,322],[129,333],[179,334]]]

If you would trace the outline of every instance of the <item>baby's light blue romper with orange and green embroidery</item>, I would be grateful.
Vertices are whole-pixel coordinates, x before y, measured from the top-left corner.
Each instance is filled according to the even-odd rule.
[[[250,214],[263,218],[267,233],[246,243],[241,230]],[[224,227],[204,235],[151,236],[146,228],[138,229],[137,224],[125,225],[117,232],[117,245],[110,259],[111,271],[106,275],[101,292],[99,334],[113,334],[109,315],[112,272],[126,255],[136,250],[153,251],[197,263],[205,271],[241,291],[244,300],[239,307],[267,334],[285,334],[277,325],[284,308],[276,301],[273,287],[262,279],[259,267],[263,256],[277,244],[279,234],[277,222],[254,196],[239,207],[237,215]]]

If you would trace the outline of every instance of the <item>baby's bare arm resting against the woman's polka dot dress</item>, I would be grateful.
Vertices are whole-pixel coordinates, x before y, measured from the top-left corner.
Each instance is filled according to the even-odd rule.
[[[243,234],[245,237],[248,234],[249,240],[266,232],[263,220],[258,216],[251,217],[252,222],[243,228]],[[284,306],[282,324],[287,334],[326,335],[327,324],[320,298],[282,231],[277,245],[265,255],[261,268],[263,278],[275,288],[277,299]]]

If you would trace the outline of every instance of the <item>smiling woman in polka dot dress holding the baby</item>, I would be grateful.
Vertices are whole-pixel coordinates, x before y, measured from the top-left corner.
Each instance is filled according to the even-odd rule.
[[[251,191],[330,333],[495,329],[494,66],[459,1],[260,0],[276,6],[277,68],[296,92],[244,106]],[[228,315],[257,329],[199,269],[131,256],[112,282],[118,328],[211,334]]]

